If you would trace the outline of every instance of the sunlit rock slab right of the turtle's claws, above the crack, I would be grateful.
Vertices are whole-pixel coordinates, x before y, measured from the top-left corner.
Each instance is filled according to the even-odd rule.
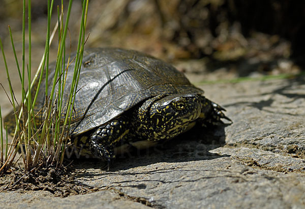
[[[226,143],[303,155],[304,89],[304,77],[236,84],[225,105],[234,120],[226,128]]]

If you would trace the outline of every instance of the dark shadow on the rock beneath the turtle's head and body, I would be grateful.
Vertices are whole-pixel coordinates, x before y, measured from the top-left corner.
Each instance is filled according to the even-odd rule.
[[[127,170],[161,162],[190,162],[227,157],[209,152],[225,144],[225,126],[212,129],[194,127],[170,141],[146,150],[134,149],[124,155],[118,155],[110,171]],[[105,167],[105,162],[98,159],[77,160],[74,162],[74,167],[77,169],[102,169]]]

